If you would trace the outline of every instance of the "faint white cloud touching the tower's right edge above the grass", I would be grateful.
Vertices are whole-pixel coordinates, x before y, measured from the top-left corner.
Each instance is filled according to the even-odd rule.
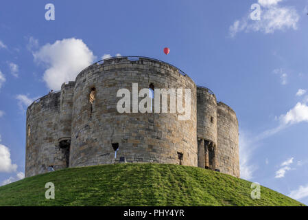
[[[239,135],[239,167],[242,179],[252,179],[257,166],[250,164],[254,144],[247,137],[246,133],[240,131]]]

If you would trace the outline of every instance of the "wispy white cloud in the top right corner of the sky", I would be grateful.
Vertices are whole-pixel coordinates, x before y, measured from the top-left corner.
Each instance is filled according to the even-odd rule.
[[[279,0],[259,0],[263,6],[261,20],[250,19],[250,12],[246,17],[237,19],[229,28],[231,37],[238,32],[263,32],[272,34],[276,30],[297,29],[299,15],[292,7],[279,6]]]

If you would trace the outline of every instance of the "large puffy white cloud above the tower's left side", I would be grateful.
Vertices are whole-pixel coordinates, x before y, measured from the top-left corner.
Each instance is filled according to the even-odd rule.
[[[93,52],[81,39],[63,39],[47,43],[33,54],[34,61],[43,63],[47,69],[43,80],[49,89],[58,90],[62,83],[75,77],[95,60]]]

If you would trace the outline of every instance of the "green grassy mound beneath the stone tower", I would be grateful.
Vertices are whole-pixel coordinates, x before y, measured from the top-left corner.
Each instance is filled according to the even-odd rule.
[[[53,182],[55,199],[45,199]],[[112,164],[68,168],[0,187],[0,206],[304,206],[230,175],[170,164]]]

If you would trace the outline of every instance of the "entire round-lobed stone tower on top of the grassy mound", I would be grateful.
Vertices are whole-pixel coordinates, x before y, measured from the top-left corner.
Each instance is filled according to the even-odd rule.
[[[133,83],[139,89],[190,89],[189,120],[178,120],[179,113],[134,112],[133,107],[119,113],[117,91],[134,93]],[[199,166],[239,177],[235,112],[180,69],[152,58],[116,57],[90,65],[61,91],[32,103],[26,126],[26,177],[51,167],[112,164],[119,158]]]

